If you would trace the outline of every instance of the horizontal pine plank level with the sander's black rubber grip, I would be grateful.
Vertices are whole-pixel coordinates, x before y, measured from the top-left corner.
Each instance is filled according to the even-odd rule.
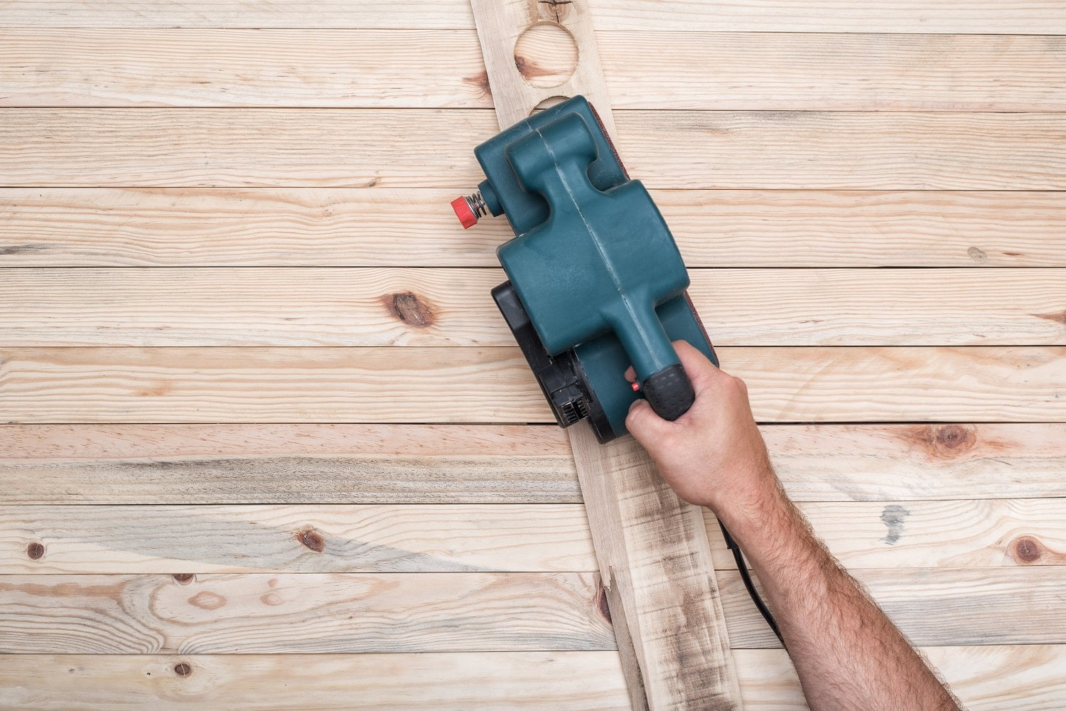
[[[762,422],[1066,421],[1063,346],[718,355]],[[2,423],[553,421],[515,348],[5,349],[0,387]]]

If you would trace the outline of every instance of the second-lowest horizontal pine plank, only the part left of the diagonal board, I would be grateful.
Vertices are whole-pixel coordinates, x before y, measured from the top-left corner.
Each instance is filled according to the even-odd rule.
[[[592,573],[0,576],[0,649],[611,649],[595,597]]]

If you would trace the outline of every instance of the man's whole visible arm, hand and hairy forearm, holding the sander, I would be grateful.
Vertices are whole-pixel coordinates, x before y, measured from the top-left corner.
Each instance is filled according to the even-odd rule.
[[[811,532],[777,483],[744,383],[683,341],[696,401],[675,422],[645,400],[626,426],[690,503],[707,505],[762,581],[811,711],[958,711],[959,706]],[[626,377],[634,378],[629,369]]]

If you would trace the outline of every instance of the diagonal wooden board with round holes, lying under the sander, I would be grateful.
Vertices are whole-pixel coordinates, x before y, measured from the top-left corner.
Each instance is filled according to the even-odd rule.
[[[553,95],[582,94],[608,140],[616,134],[584,0],[562,7],[492,0],[470,4],[501,129]],[[543,46],[539,39],[524,42],[538,31],[562,35],[564,47],[572,43],[572,68],[555,62],[565,51],[558,36]],[[572,74],[554,88],[554,80],[536,81],[546,66]],[[597,602],[614,628],[633,711],[742,711],[699,508],[678,498],[651,458],[631,442],[601,446],[585,422],[567,435],[600,575]]]

